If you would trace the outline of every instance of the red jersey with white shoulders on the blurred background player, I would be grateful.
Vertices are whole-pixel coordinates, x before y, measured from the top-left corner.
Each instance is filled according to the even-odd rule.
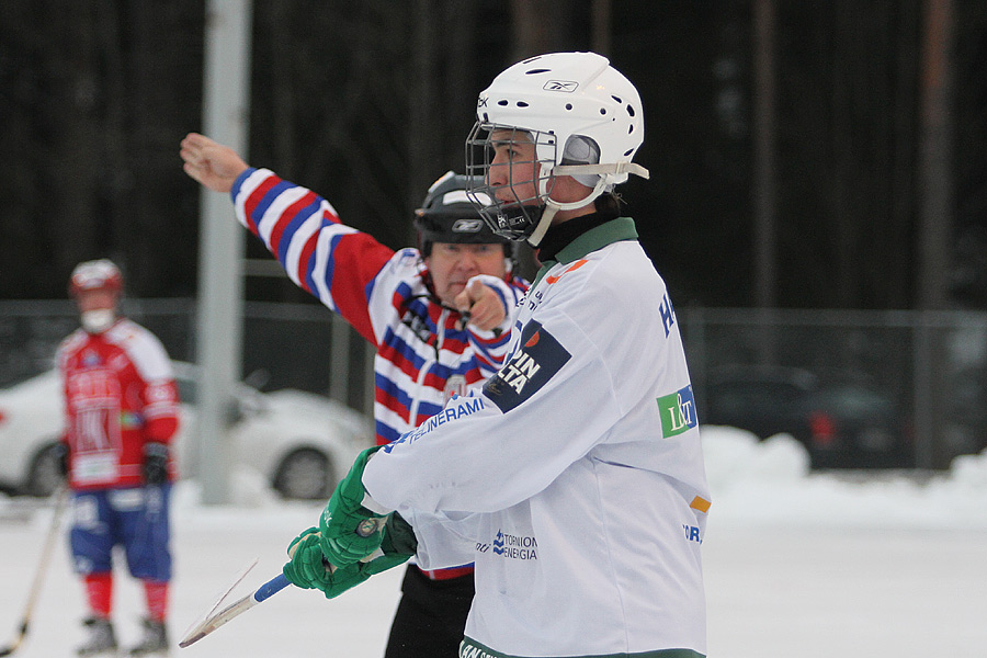
[[[171,361],[150,331],[128,319],[90,334],[78,329],[58,349],[72,489],[144,484],[144,445],[178,430]],[[174,479],[174,465],[169,465]]]

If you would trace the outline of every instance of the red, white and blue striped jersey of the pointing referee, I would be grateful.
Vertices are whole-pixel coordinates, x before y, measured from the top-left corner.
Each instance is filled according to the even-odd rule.
[[[417,428],[453,395],[483,386],[503,364],[515,307],[527,288],[521,279],[479,276],[508,311],[501,327],[481,331],[439,303],[418,250],[395,252],[342,224],[315,192],[266,169],[248,169],[230,196],[237,218],[291,280],[376,348],[377,443]]]

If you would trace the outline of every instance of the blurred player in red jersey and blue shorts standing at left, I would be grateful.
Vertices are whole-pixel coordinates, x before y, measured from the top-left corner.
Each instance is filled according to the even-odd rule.
[[[147,329],[117,314],[123,288],[109,260],[76,266],[69,294],[82,327],[58,349],[66,399],[64,464],[72,490],[70,544],[86,586],[89,615],[80,656],[116,654],[111,621],[114,546],[147,600],[143,640],[131,656],[168,649],[171,580],[168,523],[178,429],[178,389],[171,361]]]

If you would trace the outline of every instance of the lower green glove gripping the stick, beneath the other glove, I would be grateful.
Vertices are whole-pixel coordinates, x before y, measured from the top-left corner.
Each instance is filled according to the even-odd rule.
[[[356,587],[371,576],[401,565],[415,553],[415,533],[396,512],[387,520],[377,557],[368,561],[336,567],[326,559],[319,546],[319,532],[309,527],[288,545],[291,560],[284,565],[284,576],[303,589],[318,589],[333,599]]]

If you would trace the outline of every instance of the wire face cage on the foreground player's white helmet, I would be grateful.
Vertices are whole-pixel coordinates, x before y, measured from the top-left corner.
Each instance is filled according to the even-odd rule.
[[[494,133],[498,133],[497,139],[492,139]],[[534,144],[535,160],[514,160],[511,158],[508,162],[498,162],[492,164],[496,156],[496,147],[510,144]],[[542,147],[548,147],[547,149]],[[469,186],[466,189],[466,195],[476,206],[484,222],[490,227],[495,234],[502,236],[509,240],[524,240],[531,236],[542,213],[545,209],[545,198],[552,192],[552,185],[555,182],[551,174],[545,175],[542,172],[551,172],[556,162],[557,139],[551,133],[530,132],[510,126],[498,126],[490,123],[477,122],[473,126],[473,131],[466,138],[466,173],[470,175]],[[538,159],[537,152],[551,152],[551,158]],[[518,173],[523,179],[515,179],[515,168],[521,164],[530,164],[532,175]],[[497,171],[495,177],[490,175],[490,168],[506,167],[507,175],[501,171]],[[492,180],[506,180],[503,184],[491,185]],[[540,194],[542,180],[546,180],[546,193]],[[522,186],[532,186],[531,195],[521,197],[518,189]],[[477,195],[485,195],[492,202],[486,205]]]

